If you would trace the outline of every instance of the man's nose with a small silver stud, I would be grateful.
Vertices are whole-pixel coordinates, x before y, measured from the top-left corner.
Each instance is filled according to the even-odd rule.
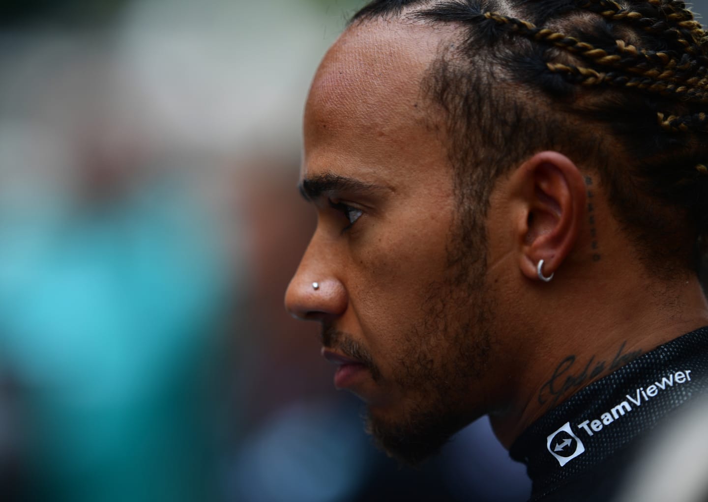
[[[335,272],[331,262],[318,257],[313,240],[285,291],[285,309],[290,315],[315,321],[342,315],[347,291]]]

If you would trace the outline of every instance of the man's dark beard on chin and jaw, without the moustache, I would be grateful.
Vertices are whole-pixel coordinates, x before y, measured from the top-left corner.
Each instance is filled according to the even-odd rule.
[[[476,296],[479,300],[479,291]],[[469,305],[467,300],[463,305]],[[396,385],[413,396],[404,416],[389,419],[371,411],[365,416],[367,432],[377,447],[399,462],[419,465],[481,415],[475,402],[480,399],[470,392],[479,388],[477,382],[487,366],[493,309],[489,301],[475,303],[476,312],[467,319],[455,318],[450,309],[431,310],[426,318],[438,320],[437,327],[426,326],[411,335],[409,352],[394,375]],[[435,344],[425,343],[430,340]]]

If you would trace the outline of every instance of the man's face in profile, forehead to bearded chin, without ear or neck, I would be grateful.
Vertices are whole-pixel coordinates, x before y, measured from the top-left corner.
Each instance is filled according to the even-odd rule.
[[[484,228],[466,229],[479,248],[455,249],[442,116],[421,93],[441,36],[372,21],[326,55],[304,116],[302,189],[318,224],[286,295],[292,314],[322,323],[335,385],[410,462],[481,414],[491,339]]]

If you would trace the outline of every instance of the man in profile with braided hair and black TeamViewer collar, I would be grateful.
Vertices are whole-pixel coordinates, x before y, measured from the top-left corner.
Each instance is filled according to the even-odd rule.
[[[489,414],[532,498],[606,500],[708,387],[707,54],[680,1],[355,15],[305,108],[286,305],[382,448],[416,463]]]

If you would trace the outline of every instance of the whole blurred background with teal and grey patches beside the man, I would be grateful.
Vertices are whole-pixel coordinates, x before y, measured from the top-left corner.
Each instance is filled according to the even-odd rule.
[[[486,419],[375,450],[282,307],[304,99],[361,5],[0,1],[0,500],[527,498]]]

